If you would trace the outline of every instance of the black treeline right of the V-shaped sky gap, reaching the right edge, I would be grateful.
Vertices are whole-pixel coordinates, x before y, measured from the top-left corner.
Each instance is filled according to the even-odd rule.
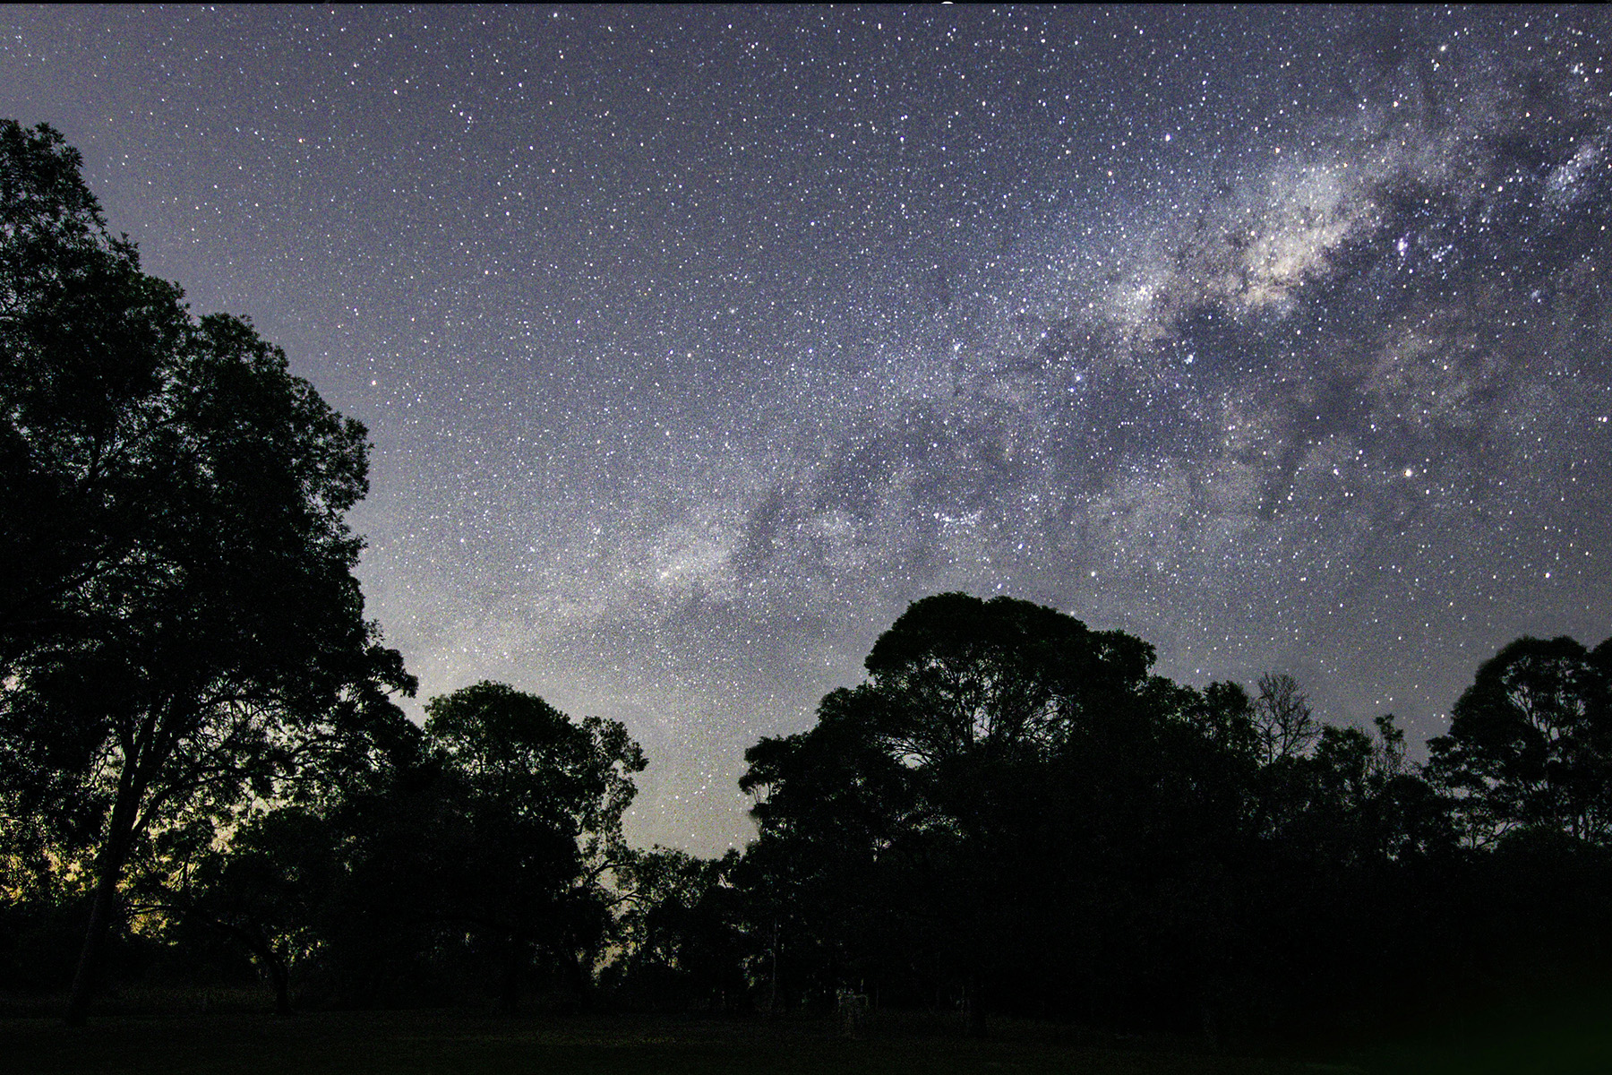
[[[1151,662],[938,595],[754,746],[729,878],[783,994],[1259,1036],[1607,980],[1612,641],[1506,646],[1423,766],[1393,717],[1317,725],[1290,677]]]

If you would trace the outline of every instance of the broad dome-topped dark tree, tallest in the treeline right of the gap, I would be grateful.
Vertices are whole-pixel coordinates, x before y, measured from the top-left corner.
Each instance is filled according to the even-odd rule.
[[[746,753],[759,898],[824,944],[829,977],[880,951],[887,967],[927,961],[980,1031],[993,990],[1041,959],[1030,938],[1067,914],[1086,833],[1128,835],[1138,799],[1119,785],[1159,783],[1149,751],[1185,696],[1151,661],[1140,638],[1028,601],[912,603],[874,643],[867,683]],[[804,936],[785,940],[798,964]]]

